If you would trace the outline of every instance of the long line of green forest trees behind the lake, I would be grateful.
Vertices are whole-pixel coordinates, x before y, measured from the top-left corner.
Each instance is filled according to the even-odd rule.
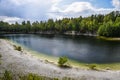
[[[48,21],[23,21],[21,24],[9,24],[0,21],[0,32],[8,33],[70,33],[95,34],[106,37],[120,37],[120,11],[89,17],[49,19]]]

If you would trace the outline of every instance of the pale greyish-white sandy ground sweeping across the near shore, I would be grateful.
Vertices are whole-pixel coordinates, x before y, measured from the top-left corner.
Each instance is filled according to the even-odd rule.
[[[44,60],[32,56],[27,51],[14,50],[13,43],[0,39],[0,54],[2,55],[0,74],[11,70],[15,74],[35,73],[48,77],[71,77],[75,80],[120,80],[120,71],[93,71],[77,68],[59,68]]]

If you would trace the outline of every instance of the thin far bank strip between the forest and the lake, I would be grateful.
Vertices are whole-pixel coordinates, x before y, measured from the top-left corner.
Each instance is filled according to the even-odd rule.
[[[91,36],[96,37],[97,39],[103,39],[107,41],[120,41],[120,37],[105,37],[105,36],[99,36],[97,34],[91,34],[91,33],[46,33],[46,32],[29,32],[29,33],[11,33],[11,32],[0,32],[0,34],[40,34],[40,35],[66,35],[66,36]]]

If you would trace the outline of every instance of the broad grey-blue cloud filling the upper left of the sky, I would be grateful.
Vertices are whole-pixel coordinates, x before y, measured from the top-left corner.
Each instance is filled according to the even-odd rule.
[[[1,0],[0,15],[47,20],[49,10],[61,0]]]

